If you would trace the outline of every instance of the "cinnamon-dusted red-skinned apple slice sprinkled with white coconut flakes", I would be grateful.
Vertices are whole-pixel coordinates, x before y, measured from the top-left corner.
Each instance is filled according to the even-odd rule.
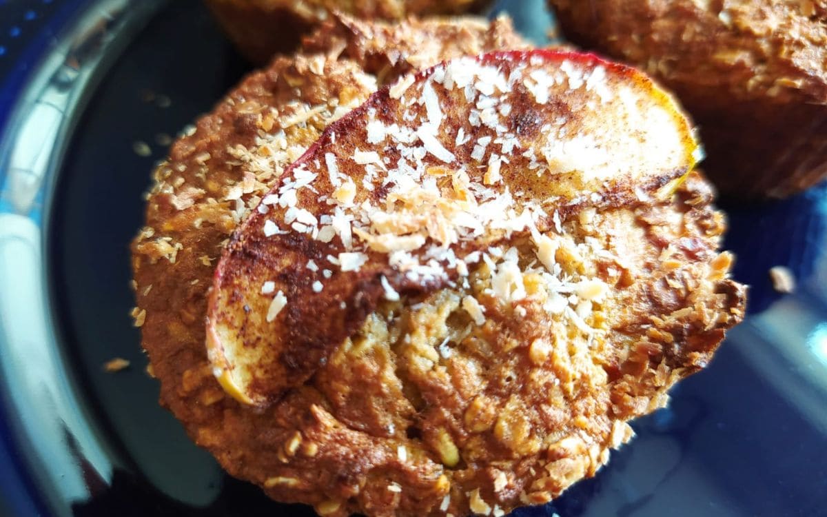
[[[307,381],[383,299],[585,206],[643,203],[700,147],[675,100],[595,55],[497,52],[400,79],[332,124],[232,236],[208,356],[237,400]]]

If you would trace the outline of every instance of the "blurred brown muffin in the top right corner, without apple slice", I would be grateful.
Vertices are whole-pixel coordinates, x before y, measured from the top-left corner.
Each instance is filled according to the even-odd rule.
[[[825,2],[549,3],[566,38],[676,92],[725,194],[780,198],[827,176]]]

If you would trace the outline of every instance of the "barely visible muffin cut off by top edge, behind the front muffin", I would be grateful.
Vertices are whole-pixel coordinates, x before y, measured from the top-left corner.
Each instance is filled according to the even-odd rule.
[[[411,15],[457,15],[479,11],[487,0],[206,0],[227,36],[254,63],[292,50],[299,36],[331,12],[367,21],[402,20]]]

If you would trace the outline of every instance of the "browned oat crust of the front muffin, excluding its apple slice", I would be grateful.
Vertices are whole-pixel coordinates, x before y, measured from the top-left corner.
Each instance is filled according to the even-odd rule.
[[[469,45],[490,42],[476,43],[480,50],[501,41],[491,34],[508,33],[466,28]],[[574,331],[539,318],[537,300],[485,305],[490,323],[448,336],[473,317],[469,294],[447,286],[418,304],[379,304],[309,381],[275,405],[241,405],[206,356],[208,287],[230,234],[287,165],[375,89],[348,53],[399,62],[393,49],[384,60],[377,50],[360,54],[353,49],[370,44],[348,40],[360,31],[345,34],[344,54],[281,58],[252,74],[156,170],[133,265],[136,323],[161,402],[232,475],[322,515],[499,515],[548,500],[593,475],[629,438],[625,421],[665,404],[668,386],[705,366],[741,317],[743,290],[725,280],[729,259],[717,254],[724,223],[710,188],[690,175],[672,200],[641,192],[559,213],[556,260],[566,274],[615,286],[589,320],[611,328],[611,339],[567,340]],[[458,51],[454,40],[446,45],[454,50],[440,57]],[[526,240],[511,244],[534,254]],[[583,252],[594,249],[604,252]],[[471,272],[468,292],[485,304],[483,273]],[[439,363],[436,374],[428,361]]]

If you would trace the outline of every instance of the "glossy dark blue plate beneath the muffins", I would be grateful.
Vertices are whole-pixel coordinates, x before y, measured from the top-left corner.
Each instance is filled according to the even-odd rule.
[[[498,8],[540,41],[542,4]],[[313,515],[191,443],[129,318],[149,171],[246,65],[198,0],[0,0],[0,49],[0,514]],[[516,515],[827,515],[827,185],[720,204],[751,316],[598,476]]]

